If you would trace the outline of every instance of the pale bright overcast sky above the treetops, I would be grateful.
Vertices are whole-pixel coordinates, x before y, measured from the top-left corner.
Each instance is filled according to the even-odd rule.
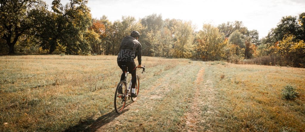
[[[50,6],[52,0],[45,0]],[[65,5],[68,0],[62,0]],[[92,18],[106,15],[112,22],[122,16],[141,19],[153,13],[163,19],[192,21],[196,30],[204,23],[215,26],[242,21],[248,30],[256,29],[260,38],[267,36],[283,16],[305,12],[305,0],[88,0]]]

